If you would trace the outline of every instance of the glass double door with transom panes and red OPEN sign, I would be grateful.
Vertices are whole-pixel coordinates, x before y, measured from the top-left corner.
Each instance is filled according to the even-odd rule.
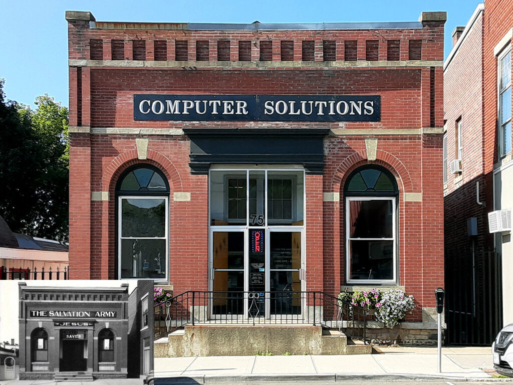
[[[303,186],[303,171],[211,171],[214,318],[301,314]]]

